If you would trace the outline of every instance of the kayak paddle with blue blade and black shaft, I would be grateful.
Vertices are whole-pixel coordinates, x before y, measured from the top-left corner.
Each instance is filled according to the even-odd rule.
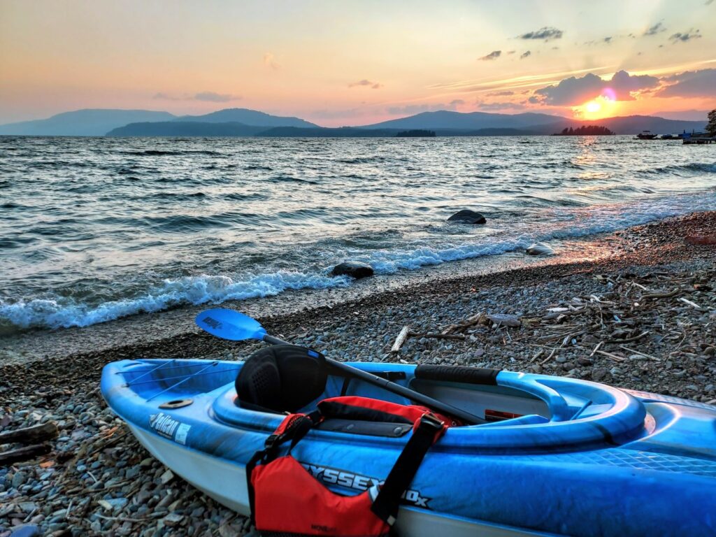
[[[208,309],[198,314],[195,321],[200,329],[221,339],[229,339],[235,342],[240,342],[245,339],[256,339],[272,345],[289,344],[277,337],[271,336],[256,319],[252,319],[248,315],[244,315],[233,309]],[[448,405],[447,403],[423,395],[420,392],[415,392],[415,390],[410,390],[388,379],[378,377],[377,375],[363,371],[357,367],[349,366],[343,362],[337,362],[331,358],[325,358],[325,360],[334,367],[334,369],[349,374],[351,377],[381,387],[388,392],[407,397],[407,399],[437,410],[442,414],[455,417],[463,423],[470,425],[485,423],[483,418],[470,414],[470,412],[465,412],[464,410],[453,407],[453,405]]]

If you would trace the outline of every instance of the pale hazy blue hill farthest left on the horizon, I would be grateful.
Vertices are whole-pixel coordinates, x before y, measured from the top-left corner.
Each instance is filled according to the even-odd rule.
[[[153,110],[84,109],[62,112],[46,120],[0,125],[0,135],[104,136],[108,131],[132,122],[168,121],[175,116]]]

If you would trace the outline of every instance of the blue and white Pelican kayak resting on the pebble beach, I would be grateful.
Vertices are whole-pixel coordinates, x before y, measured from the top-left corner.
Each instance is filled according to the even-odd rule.
[[[158,460],[248,515],[246,463],[285,416],[237,404],[243,364],[122,360],[102,372],[102,395]],[[470,368],[352,365],[487,421],[432,446],[403,495],[401,536],[716,535],[715,406],[539,374],[495,371],[484,383]],[[302,410],[339,395],[411,403],[329,374]],[[352,495],[387,476],[411,434],[328,420],[292,454]]]

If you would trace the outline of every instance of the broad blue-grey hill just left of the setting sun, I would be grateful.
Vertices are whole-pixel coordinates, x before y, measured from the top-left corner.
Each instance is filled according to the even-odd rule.
[[[456,130],[479,130],[479,129],[524,129],[533,125],[545,125],[554,123],[566,118],[558,115],[536,114],[526,112],[524,114],[492,114],[489,112],[450,112],[440,110],[438,112],[422,112],[420,114],[401,117],[398,120],[374,123],[373,125],[362,125],[362,129],[456,129]]]

